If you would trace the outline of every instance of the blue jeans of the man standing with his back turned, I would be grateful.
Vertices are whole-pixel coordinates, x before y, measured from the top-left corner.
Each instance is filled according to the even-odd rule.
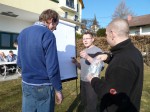
[[[22,83],[22,112],[54,112],[55,94],[52,86]]]

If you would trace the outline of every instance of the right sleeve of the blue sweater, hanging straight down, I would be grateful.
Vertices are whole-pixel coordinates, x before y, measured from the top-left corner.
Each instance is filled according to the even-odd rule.
[[[50,36],[51,36],[50,38],[48,38],[43,42],[46,58],[46,68],[52,86],[55,88],[55,90],[61,91],[62,84],[60,79],[56,39],[53,34],[51,34]]]

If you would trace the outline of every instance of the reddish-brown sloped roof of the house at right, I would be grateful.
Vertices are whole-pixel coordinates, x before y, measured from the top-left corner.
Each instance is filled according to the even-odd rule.
[[[150,25],[150,14],[132,17],[128,22],[130,27]]]

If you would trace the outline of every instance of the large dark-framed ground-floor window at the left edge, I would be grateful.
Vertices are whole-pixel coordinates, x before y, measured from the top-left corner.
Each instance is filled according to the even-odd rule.
[[[16,33],[0,32],[0,49],[16,49],[13,43],[18,35]]]

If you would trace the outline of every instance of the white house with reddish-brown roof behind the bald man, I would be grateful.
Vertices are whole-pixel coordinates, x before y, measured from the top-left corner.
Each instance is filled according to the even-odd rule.
[[[143,16],[128,16],[130,35],[150,35],[150,14]]]

